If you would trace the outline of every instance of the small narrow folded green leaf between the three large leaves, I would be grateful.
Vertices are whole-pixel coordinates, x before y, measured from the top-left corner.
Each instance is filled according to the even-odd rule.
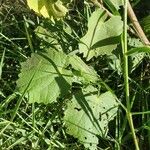
[[[83,60],[76,56],[69,57],[69,63],[74,69],[74,75],[79,77],[78,80],[82,80],[84,83],[96,83],[98,81],[98,74],[91,66],[88,66]]]

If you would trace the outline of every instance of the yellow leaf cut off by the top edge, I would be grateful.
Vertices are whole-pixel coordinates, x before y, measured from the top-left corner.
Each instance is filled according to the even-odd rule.
[[[52,20],[62,18],[68,12],[60,0],[27,0],[27,4],[36,13]]]

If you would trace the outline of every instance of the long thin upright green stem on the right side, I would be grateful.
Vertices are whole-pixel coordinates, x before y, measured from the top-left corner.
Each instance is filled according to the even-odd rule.
[[[125,84],[125,97],[126,97],[126,105],[127,105],[127,119],[129,122],[129,126],[132,132],[132,137],[134,140],[136,150],[139,150],[138,141],[135,134],[135,129],[133,125],[132,115],[131,115],[131,106],[130,106],[130,92],[129,92],[129,72],[128,72],[128,56],[126,55],[127,52],[127,7],[128,7],[128,0],[124,0],[124,29],[123,29],[123,60],[124,60],[124,84]]]

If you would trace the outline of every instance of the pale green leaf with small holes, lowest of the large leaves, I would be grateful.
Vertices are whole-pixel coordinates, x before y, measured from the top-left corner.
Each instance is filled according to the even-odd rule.
[[[106,137],[108,123],[117,109],[116,99],[110,92],[98,96],[93,86],[79,90],[68,101],[65,111],[67,133],[78,138],[86,148],[96,150],[97,136]]]

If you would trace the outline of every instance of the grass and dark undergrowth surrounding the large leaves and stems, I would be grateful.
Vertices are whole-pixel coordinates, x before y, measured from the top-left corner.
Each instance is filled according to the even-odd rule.
[[[130,2],[150,40],[149,0]],[[37,27],[42,25],[48,29],[52,38],[59,41],[66,53],[78,49],[78,41],[87,31],[88,13],[91,15],[95,10],[93,3],[72,0],[67,6],[69,7],[68,15],[63,20],[56,21],[54,25],[50,20],[37,16],[30,10],[26,0],[0,1],[0,149],[2,150],[86,149],[77,138],[66,132],[63,122],[66,104],[63,98],[60,98],[59,102],[47,105],[30,104],[28,99],[23,98],[15,111],[20,99],[20,94],[16,92],[16,82],[21,72],[21,63],[30,57],[32,52],[41,52],[45,48],[54,46],[47,37],[41,38],[35,32]],[[104,4],[104,6],[111,11],[107,5]],[[122,7],[119,11],[123,16]],[[64,25],[73,30],[71,35],[66,34],[69,28],[65,29]],[[130,20],[128,25],[128,48],[143,46]],[[82,54],[79,56],[85,61]],[[124,79],[119,70],[122,63],[119,60],[119,63],[116,62],[115,56],[102,55],[85,62],[96,70],[121,103],[125,104]],[[114,63],[118,66],[116,67]],[[137,112],[133,115],[136,138],[139,148],[148,150],[150,149],[149,53],[140,53],[129,59],[129,76],[130,94],[133,100],[132,111]],[[14,111],[16,115],[11,120]],[[138,112],[141,113],[138,114]],[[120,137],[116,136],[116,131],[120,133]],[[97,149],[135,149],[126,113],[122,108],[119,109],[117,117],[109,123],[109,138],[98,137],[98,139]]]

